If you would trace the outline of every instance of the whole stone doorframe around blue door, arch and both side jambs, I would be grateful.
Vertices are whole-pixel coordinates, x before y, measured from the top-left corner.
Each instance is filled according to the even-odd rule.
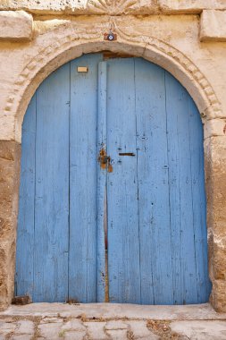
[[[12,89],[10,96],[11,115],[14,119],[14,141],[13,141],[13,187],[14,208],[13,218],[12,211],[9,211],[10,235],[11,242],[7,243],[6,256],[4,257],[3,266],[7,267],[9,257],[12,258],[12,266],[7,270],[4,277],[4,296],[1,299],[3,308],[7,307],[13,298],[13,283],[15,271],[15,247],[16,247],[16,227],[17,227],[17,210],[19,200],[19,181],[20,174],[18,167],[20,166],[20,144],[21,144],[21,125],[23,117],[26,113],[29,101],[35,93],[36,89],[46,77],[54,72],[61,65],[75,59],[83,54],[102,52],[109,50],[116,53],[130,54],[143,57],[149,62],[158,64],[166,71],[180,81],[180,83],[188,90],[190,96],[194,99],[202,122],[204,123],[204,150],[205,150],[205,191],[207,199],[207,229],[208,229],[208,253],[209,253],[209,275],[213,284],[211,293],[211,302],[216,310],[226,310],[226,302],[222,300],[222,289],[219,286],[218,276],[216,273],[216,260],[220,257],[219,250],[214,247],[214,238],[217,235],[216,221],[214,219],[217,212],[217,189],[214,178],[216,174],[217,157],[214,154],[214,136],[221,117],[222,109],[218,98],[216,98],[213,88],[205,75],[197,68],[197,66],[188,59],[186,55],[181,53],[175,47],[163,43],[157,38],[132,36],[128,37],[117,31],[118,40],[108,42],[103,37],[96,34],[94,37],[92,32],[78,35],[74,38],[72,29],[65,30],[65,35],[58,34],[57,29],[51,32],[49,45],[43,49],[35,58],[30,58],[26,67],[22,70],[18,81]],[[53,42],[54,41],[54,42]],[[7,103],[9,105],[9,103]],[[15,147],[16,145],[16,147]],[[18,150],[19,149],[19,150]],[[4,244],[0,243],[0,251]]]

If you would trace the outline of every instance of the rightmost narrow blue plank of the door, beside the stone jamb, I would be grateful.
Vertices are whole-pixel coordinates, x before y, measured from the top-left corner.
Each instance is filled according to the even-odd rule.
[[[188,98],[193,228],[197,267],[197,302],[208,302],[211,282],[208,276],[203,126],[197,106]]]

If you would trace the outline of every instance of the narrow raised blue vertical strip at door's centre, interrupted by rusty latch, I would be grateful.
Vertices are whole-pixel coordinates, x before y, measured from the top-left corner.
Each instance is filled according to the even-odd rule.
[[[97,152],[106,149],[106,63],[98,67]],[[97,302],[105,302],[106,171],[97,166]]]

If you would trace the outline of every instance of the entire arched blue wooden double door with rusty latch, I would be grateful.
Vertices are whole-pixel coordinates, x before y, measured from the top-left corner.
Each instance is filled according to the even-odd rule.
[[[168,72],[84,55],[38,88],[23,122],[15,281],[33,302],[208,300],[202,123]]]

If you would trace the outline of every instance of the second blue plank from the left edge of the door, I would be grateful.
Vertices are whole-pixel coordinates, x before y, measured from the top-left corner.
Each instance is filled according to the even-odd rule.
[[[70,64],[37,91],[34,302],[65,302],[69,251]]]

